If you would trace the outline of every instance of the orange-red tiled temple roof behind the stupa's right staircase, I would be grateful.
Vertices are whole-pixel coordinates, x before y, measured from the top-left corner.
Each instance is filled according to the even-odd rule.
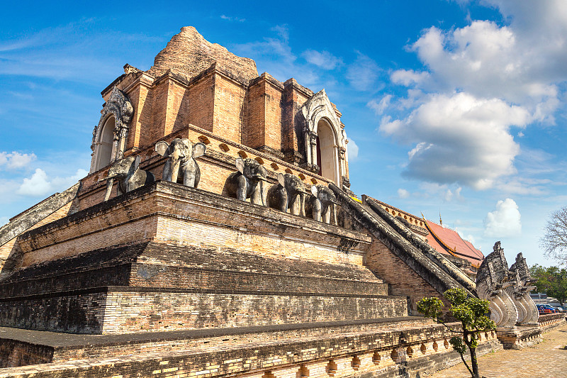
[[[437,252],[445,255],[453,255],[461,257],[471,262],[473,267],[480,267],[484,259],[483,252],[474,248],[471,242],[463,240],[459,233],[451,228],[439,226],[432,221],[425,221],[427,230],[427,243],[429,243]]]

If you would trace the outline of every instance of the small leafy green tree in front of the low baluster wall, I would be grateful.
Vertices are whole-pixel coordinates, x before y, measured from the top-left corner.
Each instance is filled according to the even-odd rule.
[[[479,334],[487,330],[496,328],[496,324],[486,316],[488,313],[488,301],[478,298],[471,298],[463,289],[449,289],[443,294],[445,299],[451,304],[449,313],[456,320],[460,321],[463,328],[456,330],[442,321],[443,302],[441,299],[432,296],[417,302],[417,311],[424,314],[427,318],[432,318],[437,323],[442,323],[451,333],[458,334],[449,340],[453,349],[461,355],[464,365],[471,373],[472,378],[480,378],[478,375],[478,361],[476,360],[476,347],[478,346]],[[464,354],[468,348],[471,352],[471,367],[465,361]]]

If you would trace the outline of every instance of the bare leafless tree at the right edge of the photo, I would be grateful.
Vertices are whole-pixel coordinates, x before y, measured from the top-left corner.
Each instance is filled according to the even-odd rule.
[[[554,258],[561,264],[567,262],[567,206],[554,211],[549,216],[545,233],[539,240],[539,246],[546,257]]]

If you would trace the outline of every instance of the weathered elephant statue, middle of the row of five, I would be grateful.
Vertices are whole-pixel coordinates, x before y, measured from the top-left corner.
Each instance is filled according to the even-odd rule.
[[[268,172],[254,159],[236,159],[238,172],[230,174],[226,182],[228,194],[240,201],[250,199],[252,204],[266,206]]]

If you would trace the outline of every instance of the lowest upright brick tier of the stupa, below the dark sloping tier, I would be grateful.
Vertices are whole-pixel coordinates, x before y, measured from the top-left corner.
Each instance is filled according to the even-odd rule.
[[[99,287],[0,299],[1,326],[130,333],[408,316],[405,296]]]

